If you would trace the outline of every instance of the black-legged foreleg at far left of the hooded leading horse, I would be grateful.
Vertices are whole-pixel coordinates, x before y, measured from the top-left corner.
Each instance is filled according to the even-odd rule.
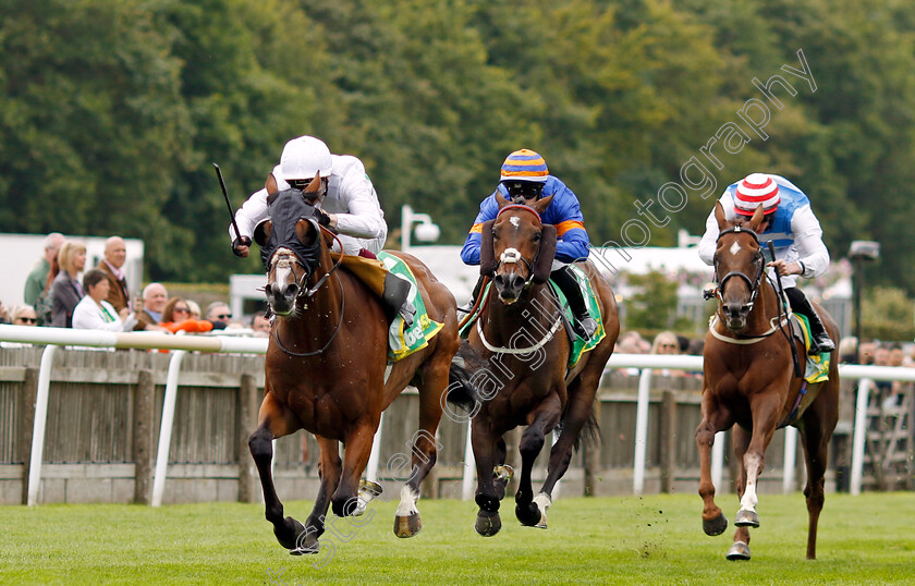
[[[257,429],[248,438],[248,448],[260,486],[264,489],[264,504],[267,521],[273,524],[273,534],[281,546],[289,550],[298,547],[297,540],[305,534],[305,527],[293,517],[283,517],[283,503],[273,487],[273,475],[270,462],[273,460],[273,439],[281,438],[298,429],[297,420],[289,407],[267,392],[260,403]]]

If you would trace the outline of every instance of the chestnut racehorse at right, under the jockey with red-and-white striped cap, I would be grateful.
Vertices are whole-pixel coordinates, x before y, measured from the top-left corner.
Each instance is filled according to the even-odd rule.
[[[764,221],[762,206],[748,220],[730,222],[721,204],[715,207],[720,235],[715,253],[718,278],[717,323],[709,328],[703,353],[703,420],[696,429],[701,477],[699,495],[705,503],[703,529],[720,535],[728,518],[715,504],[711,483],[711,447],[715,434],[734,424],[734,455],[740,462],[737,495],[741,508],[734,520],[737,530],[728,551],[729,560],[749,559],[749,527],[759,526],[756,513],[757,479],[762,472],[766,448],[776,428],[792,425],[802,437],[807,465],[807,559],[816,559],[817,522],[823,503],[827,449],[839,418],[839,371],[835,353],[829,379],[812,383],[804,391],[802,378],[792,366],[792,350],[806,355],[794,340],[786,312],[771,280],[767,284],[766,263],[757,231]],[[829,335],[839,331],[829,315],[817,306]]]

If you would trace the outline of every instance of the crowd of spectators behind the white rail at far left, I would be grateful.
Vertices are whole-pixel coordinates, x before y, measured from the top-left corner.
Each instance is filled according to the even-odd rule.
[[[271,322],[264,312],[242,323],[233,319],[225,302],[217,301],[202,317],[196,302],[170,297],[166,286],[155,282],[132,297],[124,272],[126,257],[124,240],[111,236],[98,266],[86,267],[83,242],[48,234],[42,256],[24,283],[25,303],[13,307],[0,303],[0,323],[162,333],[237,329],[269,335]]]

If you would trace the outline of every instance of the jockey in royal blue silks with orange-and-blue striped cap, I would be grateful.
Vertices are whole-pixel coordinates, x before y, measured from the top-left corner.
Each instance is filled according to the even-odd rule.
[[[550,279],[565,294],[572,313],[575,314],[573,329],[580,335],[589,339],[597,331],[598,325],[588,315],[582,289],[569,267],[570,263],[586,259],[590,251],[578,198],[563,182],[549,174],[547,163],[540,155],[526,148],[515,150],[502,163],[498,187],[479,205],[479,213],[461,251],[461,259],[466,265],[479,265],[483,224],[496,219],[499,212],[496,194],[501,194],[515,204],[533,204],[541,197],[553,196],[542,215],[542,222],[553,224],[557,232],[556,258]],[[474,306],[481,285],[483,278],[477,282],[468,306],[462,308],[462,312],[468,313]]]

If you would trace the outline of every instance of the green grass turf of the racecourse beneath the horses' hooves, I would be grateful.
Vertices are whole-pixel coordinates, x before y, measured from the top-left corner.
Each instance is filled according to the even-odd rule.
[[[733,520],[736,497],[718,503]],[[285,510],[304,521],[310,506]],[[760,497],[749,562],[724,559],[733,526],[718,537],[703,533],[696,495],[558,499],[546,530],[521,527],[507,500],[492,538],[474,532],[472,503],[444,500],[420,501],[423,532],[398,539],[394,508],[373,502],[375,517],[362,527],[334,520],[339,535],[322,538],[332,551],[292,557],[261,505],[3,506],[0,584],[915,583],[911,492],[827,495],[816,561],[804,559],[800,493]]]

